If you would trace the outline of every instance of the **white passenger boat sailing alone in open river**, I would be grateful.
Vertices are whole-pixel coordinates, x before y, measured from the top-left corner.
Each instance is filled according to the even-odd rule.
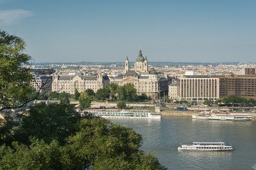
[[[225,142],[193,142],[192,145],[181,145],[179,151],[233,151],[231,145]]]

